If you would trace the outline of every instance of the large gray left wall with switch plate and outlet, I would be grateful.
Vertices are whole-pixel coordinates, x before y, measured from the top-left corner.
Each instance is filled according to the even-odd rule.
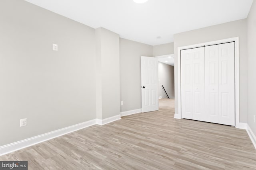
[[[0,21],[0,146],[95,119],[94,29],[23,0]]]

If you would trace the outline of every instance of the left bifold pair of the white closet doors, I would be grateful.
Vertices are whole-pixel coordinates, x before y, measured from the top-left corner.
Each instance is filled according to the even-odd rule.
[[[204,47],[181,51],[182,118],[205,121]]]

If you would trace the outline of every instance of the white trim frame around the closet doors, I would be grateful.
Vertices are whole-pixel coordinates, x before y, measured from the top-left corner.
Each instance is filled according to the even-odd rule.
[[[235,127],[244,129],[243,124],[240,124],[239,121],[239,37],[178,47],[178,62],[177,65],[175,65],[178,68],[178,95],[175,97],[175,100],[178,101],[178,108],[175,109],[174,118],[181,119],[181,50],[229,42],[235,42]]]

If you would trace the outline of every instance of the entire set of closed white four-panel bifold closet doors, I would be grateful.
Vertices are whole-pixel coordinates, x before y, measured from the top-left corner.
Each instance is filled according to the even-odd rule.
[[[234,42],[181,51],[181,117],[235,125]]]

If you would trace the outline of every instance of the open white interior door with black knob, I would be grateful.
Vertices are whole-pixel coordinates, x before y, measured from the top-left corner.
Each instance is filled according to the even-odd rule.
[[[158,110],[158,59],[141,56],[142,112]]]

